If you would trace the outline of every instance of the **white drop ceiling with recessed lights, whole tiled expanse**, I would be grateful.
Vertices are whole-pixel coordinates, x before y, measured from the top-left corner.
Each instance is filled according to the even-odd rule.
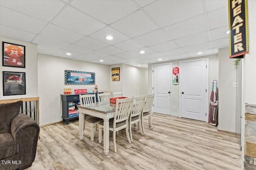
[[[147,68],[212,55],[228,47],[226,31],[227,0],[0,0],[1,37],[93,63]]]

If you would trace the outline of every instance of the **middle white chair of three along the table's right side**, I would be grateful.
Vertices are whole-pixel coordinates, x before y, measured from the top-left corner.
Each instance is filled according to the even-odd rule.
[[[129,117],[129,128],[130,128],[130,138],[132,141],[132,124],[137,123],[139,124],[140,128],[140,133],[141,135],[143,134],[142,131],[142,125],[141,125],[141,114],[142,114],[142,109],[145,105],[145,96],[137,96],[134,97],[133,100],[133,106],[132,106],[132,111]]]

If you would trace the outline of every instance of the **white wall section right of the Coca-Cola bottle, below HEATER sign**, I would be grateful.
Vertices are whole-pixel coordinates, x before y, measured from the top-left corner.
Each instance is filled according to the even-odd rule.
[[[219,49],[219,108],[218,129],[236,132],[236,59],[229,58],[229,49]]]

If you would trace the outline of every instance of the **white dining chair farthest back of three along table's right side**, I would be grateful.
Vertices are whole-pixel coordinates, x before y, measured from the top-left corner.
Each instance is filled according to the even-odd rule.
[[[145,106],[144,106],[144,108],[142,110],[142,114],[141,114],[141,125],[142,125],[143,134],[145,134],[144,125],[143,125],[144,118],[148,117],[148,125],[151,129],[153,129],[153,125],[152,125],[153,101],[154,101],[154,94],[148,94],[145,96]]]

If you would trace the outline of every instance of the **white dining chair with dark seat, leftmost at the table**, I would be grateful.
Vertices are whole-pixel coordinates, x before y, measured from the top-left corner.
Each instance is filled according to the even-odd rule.
[[[86,105],[91,105],[91,106],[95,106],[95,100],[96,100],[96,95],[95,94],[84,94],[84,95],[79,95],[79,99],[80,99],[80,104],[86,104]],[[87,115],[84,118],[84,127],[85,127],[85,123],[89,123],[90,124],[90,137],[91,137],[91,141],[94,141],[94,125],[96,125],[96,131],[97,131],[97,124],[102,121],[103,119],[98,118],[98,117],[94,117],[91,115]]]

